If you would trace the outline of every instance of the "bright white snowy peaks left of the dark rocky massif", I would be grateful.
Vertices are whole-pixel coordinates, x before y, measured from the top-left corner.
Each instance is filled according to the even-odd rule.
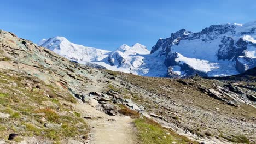
[[[147,74],[144,71],[148,70],[148,68],[145,70],[141,67],[144,64],[144,56],[149,55],[150,51],[139,43],[131,47],[123,44],[114,51],[106,51],[71,43],[65,37],[53,37],[48,40],[42,39],[37,45],[47,47],[51,51],[81,64],[97,64],[110,70],[133,74]],[[98,67],[97,65],[96,67]]]

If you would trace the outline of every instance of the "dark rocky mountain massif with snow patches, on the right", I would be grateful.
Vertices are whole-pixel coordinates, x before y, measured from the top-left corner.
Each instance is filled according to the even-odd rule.
[[[181,29],[170,38],[159,39],[150,53],[165,57],[166,67],[179,67],[172,73],[178,71],[182,77],[243,73],[256,66],[255,28],[256,22],[213,25],[197,33]]]

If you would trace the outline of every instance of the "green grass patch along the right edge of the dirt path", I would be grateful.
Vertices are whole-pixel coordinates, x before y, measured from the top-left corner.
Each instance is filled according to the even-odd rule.
[[[134,121],[139,131],[139,140],[147,144],[165,144],[165,143],[197,143],[187,139],[185,136],[178,135],[173,131],[161,127],[158,123],[144,118]],[[167,135],[166,133],[170,133]]]

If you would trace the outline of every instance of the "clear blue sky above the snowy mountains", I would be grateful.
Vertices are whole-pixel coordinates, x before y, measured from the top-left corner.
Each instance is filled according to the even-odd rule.
[[[37,43],[58,35],[106,50],[135,43],[150,50],[159,38],[182,28],[197,32],[256,20],[255,0],[8,0],[0,5],[0,29],[21,38]]]

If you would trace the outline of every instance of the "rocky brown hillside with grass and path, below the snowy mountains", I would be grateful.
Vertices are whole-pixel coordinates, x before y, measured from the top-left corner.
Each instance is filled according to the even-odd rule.
[[[6,31],[0,59],[0,143],[256,142],[250,72],[217,80],[95,69]]]

